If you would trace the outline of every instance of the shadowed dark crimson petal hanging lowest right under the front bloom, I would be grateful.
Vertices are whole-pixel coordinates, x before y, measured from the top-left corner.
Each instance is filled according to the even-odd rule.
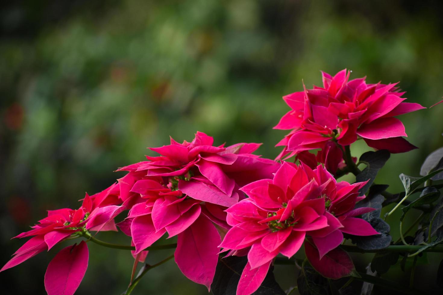
[[[304,245],[309,263],[322,276],[338,280],[355,272],[351,257],[342,249],[335,248],[320,259],[319,251],[310,242],[307,241]]]

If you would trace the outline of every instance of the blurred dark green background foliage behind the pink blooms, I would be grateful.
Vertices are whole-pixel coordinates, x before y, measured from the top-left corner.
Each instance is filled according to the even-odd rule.
[[[78,207],[142,161],[148,146],[195,131],[215,142],[263,142],[274,158],[286,134],[272,130],[288,107],[281,97],[320,70],[351,69],[370,83],[401,81],[408,102],[429,107],[443,95],[442,1],[352,0],[42,0],[0,10],[1,260],[23,243],[10,238],[46,215]],[[400,173],[418,176],[443,146],[443,106],[403,115],[420,149],[392,155],[377,177],[402,189]],[[353,155],[369,150],[358,144]],[[389,221],[396,224],[399,216]],[[409,215],[413,220],[414,214]],[[411,221],[412,222],[412,221]],[[408,222],[406,222],[408,223]],[[408,227],[408,225],[405,225]],[[392,227],[398,237],[396,225]],[[123,234],[100,233],[128,243]],[[68,242],[58,249],[69,245]],[[57,247],[54,247],[57,248]],[[2,294],[44,294],[43,275],[58,249],[0,274]],[[132,257],[90,245],[78,294],[120,294]],[[149,255],[159,261],[171,250]],[[354,256],[360,270],[372,255]],[[441,255],[420,258],[416,281],[435,288]],[[436,261],[426,264],[428,261]],[[296,271],[276,267],[284,288]],[[408,271],[385,277],[407,284]],[[207,294],[172,262],[156,268],[134,294]],[[391,293],[392,294],[392,293]]]

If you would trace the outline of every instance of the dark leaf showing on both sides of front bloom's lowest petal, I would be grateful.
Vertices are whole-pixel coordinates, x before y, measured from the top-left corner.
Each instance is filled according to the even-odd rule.
[[[241,272],[247,262],[246,256],[220,258],[215,270],[214,281],[211,284],[212,293],[214,295],[235,295]],[[261,286],[253,293],[254,295],[285,295],[277,284],[272,271],[273,268],[270,268]]]

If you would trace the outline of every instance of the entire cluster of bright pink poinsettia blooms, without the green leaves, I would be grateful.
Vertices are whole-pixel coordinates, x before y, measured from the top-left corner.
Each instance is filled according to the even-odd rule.
[[[292,257],[302,245],[322,275],[325,268],[337,270],[334,278],[349,275],[340,270],[346,263],[353,267],[339,248],[344,238],[379,233],[359,218],[374,210],[357,204],[365,198],[362,188],[368,181],[338,182],[334,174],[355,161],[349,145],[359,138],[391,153],[416,148],[403,138],[404,126],[394,117],[423,108],[403,102],[404,92],[396,84],[366,84],[365,78],[349,80],[349,75],[346,70],[334,77],[323,73],[323,87],[284,97],[292,110],[275,128],[291,132],[277,145],[284,146],[277,161],[253,154],[257,143],[214,146],[214,139],[202,132],[191,142],[171,138],[169,145],[151,148],[159,156],[118,169],[126,175],[102,192],[86,194],[79,209],[48,211],[16,237],[32,238],[0,271],[80,237],[132,250],[135,271],[167,234],[177,237],[174,258],[180,270],[208,290],[223,256],[247,256],[237,295],[249,295],[277,255]],[[284,161],[294,155],[299,165]],[[116,224],[114,218],[123,211],[126,218]],[[117,226],[131,237],[130,246],[91,234],[117,231]],[[85,241],[62,249],[47,268],[48,294],[74,294],[88,259]]]

